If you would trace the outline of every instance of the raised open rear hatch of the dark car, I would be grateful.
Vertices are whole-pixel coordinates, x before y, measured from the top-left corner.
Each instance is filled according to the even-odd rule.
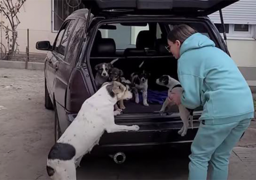
[[[82,0],[96,15],[125,12],[126,14],[161,14],[207,16],[238,0]]]

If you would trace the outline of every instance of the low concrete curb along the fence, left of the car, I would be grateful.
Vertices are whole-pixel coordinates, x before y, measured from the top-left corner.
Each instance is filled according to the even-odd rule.
[[[26,69],[26,62],[0,60],[0,68]],[[27,69],[44,70],[44,62],[28,62]]]

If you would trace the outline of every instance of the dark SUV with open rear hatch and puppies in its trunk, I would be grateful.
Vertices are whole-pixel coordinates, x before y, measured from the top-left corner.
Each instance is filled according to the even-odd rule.
[[[199,126],[202,107],[194,111],[194,128],[181,137],[177,131],[182,122],[173,107],[160,115],[166,88],[155,83],[163,74],[177,79],[177,60],[170,54],[167,34],[173,26],[188,24],[207,35],[226,53],[227,47],[207,15],[236,0],[91,0],[82,1],[87,9],[79,9],[65,19],[53,43],[37,42],[37,49],[49,51],[45,58],[45,107],[55,110],[55,139],[74,120],[84,100],[93,95],[95,66],[114,62],[113,66],[129,78],[144,68],[148,80],[149,106],[126,101],[123,114],[116,116],[120,125],[140,126],[136,132],[105,133],[99,146],[106,153],[154,148],[157,145],[191,143]],[[155,96],[154,96],[155,95]]]

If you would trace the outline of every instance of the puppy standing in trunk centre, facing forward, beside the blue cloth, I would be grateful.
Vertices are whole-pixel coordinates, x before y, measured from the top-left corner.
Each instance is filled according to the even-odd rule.
[[[131,83],[134,85],[135,103],[139,103],[139,91],[142,92],[143,105],[149,106],[147,102],[148,78],[150,73],[141,70],[138,73],[131,74]]]

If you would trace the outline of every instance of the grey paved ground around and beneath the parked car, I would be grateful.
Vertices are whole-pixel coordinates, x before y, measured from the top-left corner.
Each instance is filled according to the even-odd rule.
[[[46,157],[53,145],[54,113],[44,108],[44,73],[0,68],[0,179],[49,179]],[[230,158],[229,179],[256,177],[256,122]],[[187,179],[188,154],[129,155],[122,165],[87,157],[79,179]]]

